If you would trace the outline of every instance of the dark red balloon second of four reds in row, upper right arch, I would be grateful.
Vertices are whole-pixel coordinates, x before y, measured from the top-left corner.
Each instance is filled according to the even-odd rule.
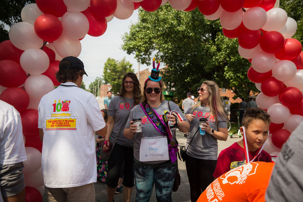
[[[242,48],[255,48],[261,39],[260,30],[249,30],[244,28],[238,36],[238,43]]]

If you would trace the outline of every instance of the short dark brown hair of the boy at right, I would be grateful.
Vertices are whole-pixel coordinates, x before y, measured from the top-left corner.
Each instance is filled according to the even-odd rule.
[[[255,120],[262,120],[270,124],[270,115],[260,108],[248,108],[243,115],[241,124],[247,129],[248,125]]]

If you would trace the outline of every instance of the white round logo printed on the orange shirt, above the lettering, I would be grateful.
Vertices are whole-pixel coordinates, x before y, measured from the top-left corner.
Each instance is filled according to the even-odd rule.
[[[222,183],[226,184],[244,184],[249,175],[256,173],[258,164],[251,162],[240,167],[234,168],[220,176]]]

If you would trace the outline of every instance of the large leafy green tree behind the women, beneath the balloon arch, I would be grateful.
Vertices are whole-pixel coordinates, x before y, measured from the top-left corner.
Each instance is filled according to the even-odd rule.
[[[168,64],[162,80],[177,99],[188,90],[197,95],[205,80],[232,89],[236,97],[257,91],[247,78],[251,64],[238,54],[237,39],[226,38],[219,20],[207,20],[198,8],[184,12],[165,4],[155,12],[140,9],[138,22],[122,38],[122,49],[141,64],[150,65],[154,56]]]

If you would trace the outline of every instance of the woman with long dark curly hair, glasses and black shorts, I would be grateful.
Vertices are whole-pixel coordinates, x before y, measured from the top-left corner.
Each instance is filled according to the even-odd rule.
[[[119,177],[123,173],[123,198],[124,201],[130,201],[132,187],[134,186],[134,173],[132,163],[134,159],[134,141],[129,140],[123,135],[126,120],[130,110],[141,101],[141,85],[134,73],[127,73],[122,79],[122,85],[119,95],[112,98],[108,106],[107,133],[103,143],[103,149],[109,149],[109,141],[117,139],[108,159],[107,175],[107,195],[108,201],[112,202],[118,185]],[[124,124],[124,125],[123,125]],[[121,131],[119,133],[119,131]],[[119,133],[119,134],[118,134]],[[124,165],[123,165],[124,164]],[[121,169],[124,171],[121,172]]]

